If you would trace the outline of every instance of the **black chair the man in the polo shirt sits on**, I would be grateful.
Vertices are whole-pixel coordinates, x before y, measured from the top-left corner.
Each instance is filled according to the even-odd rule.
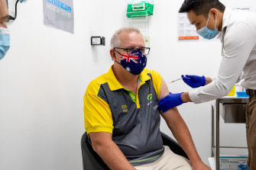
[[[164,146],[169,146],[170,149],[177,155],[184,156],[186,159],[189,159],[186,156],[186,152],[179,146],[179,144],[167,136],[164,133],[161,133]],[[84,133],[81,140],[82,156],[83,156],[83,170],[109,170],[108,166],[105,165],[105,162],[101,157],[92,149],[92,143],[87,136],[87,133]]]

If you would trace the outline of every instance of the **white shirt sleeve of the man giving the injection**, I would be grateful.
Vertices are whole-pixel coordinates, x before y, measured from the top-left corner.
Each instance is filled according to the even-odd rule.
[[[212,101],[228,95],[243,71],[255,46],[256,34],[244,23],[232,25],[225,34],[222,62],[219,75],[209,85],[190,91],[190,99],[196,103]]]

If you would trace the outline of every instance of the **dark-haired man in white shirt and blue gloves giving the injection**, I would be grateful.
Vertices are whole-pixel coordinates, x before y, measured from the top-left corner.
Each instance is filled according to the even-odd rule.
[[[250,95],[246,113],[248,167],[256,170],[256,14],[225,8],[219,0],[185,0],[180,13],[186,12],[197,33],[212,39],[219,34],[222,42],[222,62],[219,75],[182,75],[183,81],[195,91],[171,94],[159,101],[159,109],[167,111],[185,102],[195,104],[228,95],[236,82]],[[199,88],[203,86],[202,88]]]

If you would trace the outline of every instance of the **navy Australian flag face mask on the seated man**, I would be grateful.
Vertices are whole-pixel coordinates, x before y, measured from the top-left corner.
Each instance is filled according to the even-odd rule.
[[[118,63],[118,62],[116,62]],[[147,65],[147,56],[144,56],[140,50],[133,50],[127,55],[121,55],[121,63],[128,72],[131,72],[133,75],[139,75]]]

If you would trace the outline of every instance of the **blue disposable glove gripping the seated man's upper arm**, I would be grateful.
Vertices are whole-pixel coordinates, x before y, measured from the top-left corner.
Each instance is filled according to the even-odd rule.
[[[170,92],[169,95],[167,95],[165,98],[162,98],[160,99],[160,101],[158,101],[158,110],[166,112],[173,107],[177,107],[180,104],[183,104],[183,101],[180,97],[181,94],[183,93],[172,94]]]

